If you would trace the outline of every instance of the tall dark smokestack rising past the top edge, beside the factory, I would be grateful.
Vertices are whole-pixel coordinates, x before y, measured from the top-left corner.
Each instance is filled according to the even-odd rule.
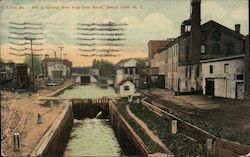
[[[190,59],[199,60],[201,55],[201,0],[192,0]]]

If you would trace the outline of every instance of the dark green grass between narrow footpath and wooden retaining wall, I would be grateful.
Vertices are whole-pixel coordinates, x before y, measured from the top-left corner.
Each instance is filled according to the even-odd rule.
[[[199,137],[194,135],[189,138],[184,131],[173,135],[170,133],[169,123],[164,118],[151,112],[141,104],[130,103],[129,105],[131,111],[147,123],[148,127],[159,136],[176,156],[215,157],[206,149],[205,141]]]

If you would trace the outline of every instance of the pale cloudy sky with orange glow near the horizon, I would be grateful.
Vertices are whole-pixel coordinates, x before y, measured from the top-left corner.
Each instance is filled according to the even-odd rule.
[[[122,58],[146,57],[149,40],[178,37],[180,23],[190,16],[190,0],[2,0],[0,3],[1,57],[16,62],[22,62],[23,57],[9,54],[12,39],[8,37],[13,31],[10,22],[42,23],[43,51],[39,53],[52,56],[63,45],[63,53],[78,66],[90,65],[94,57],[79,55],[77,23],[127,23],[120,56],[106,58],[117,62]],[[214,20],[230,29],[239,23],[241,33],[249,33],[247,0],[202,0],[201,18],[202,24]]]

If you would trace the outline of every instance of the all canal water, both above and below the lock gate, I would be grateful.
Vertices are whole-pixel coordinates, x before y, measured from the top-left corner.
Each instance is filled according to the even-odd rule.
[[[118,96],[114,89],[100,88],[97,84],[76,85],[58,97],[98,99]],[[108,121],[103,119],[74,120],[64,156],[121,156],[121,148]]]

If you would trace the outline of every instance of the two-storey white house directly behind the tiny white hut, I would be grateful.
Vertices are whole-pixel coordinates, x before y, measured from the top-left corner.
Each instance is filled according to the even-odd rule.
[[[138,61],[134,58],[123,59],[116,64],[115,88],[124,79],[131,80],[139,88]]]

